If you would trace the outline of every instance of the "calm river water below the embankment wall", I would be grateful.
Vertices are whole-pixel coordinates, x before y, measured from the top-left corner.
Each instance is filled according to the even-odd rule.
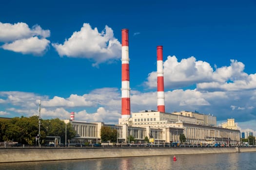
[[[40,153],[39,153],[40,154]],[[255,170],[256,152],[0,164],[0,170]]]

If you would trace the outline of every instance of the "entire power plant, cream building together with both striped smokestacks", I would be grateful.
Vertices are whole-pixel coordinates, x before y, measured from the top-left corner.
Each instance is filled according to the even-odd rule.
[[[118,143],[129,143],[129,136],[137,142],[144,142],[145,137],[153,137],[154,143],[179,142],[179,136],[184,134],[186,143],[213,144],[240,142],[240,131],[232,128],[217,126],[217,118],[211,114],[180,111],[165,112],[164,104],[164,76],[163,76],[163,47],[157,46],[157,111],[144,110],[132,113],[130,110],[130,77],[129,77],[129,41],[128,29],[122,30],[122,78],[121,78],[121,118],[117,125],[88,123],[74,120],[71,123],[77,132],[75,140],[100,141],[100,128],[109,126],[117,129]]]

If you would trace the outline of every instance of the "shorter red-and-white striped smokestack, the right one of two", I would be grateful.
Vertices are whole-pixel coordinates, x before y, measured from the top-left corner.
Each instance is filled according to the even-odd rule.
[[[157,47],[158,58],[158,111],[165,113],[163,86],[163,46]]]

